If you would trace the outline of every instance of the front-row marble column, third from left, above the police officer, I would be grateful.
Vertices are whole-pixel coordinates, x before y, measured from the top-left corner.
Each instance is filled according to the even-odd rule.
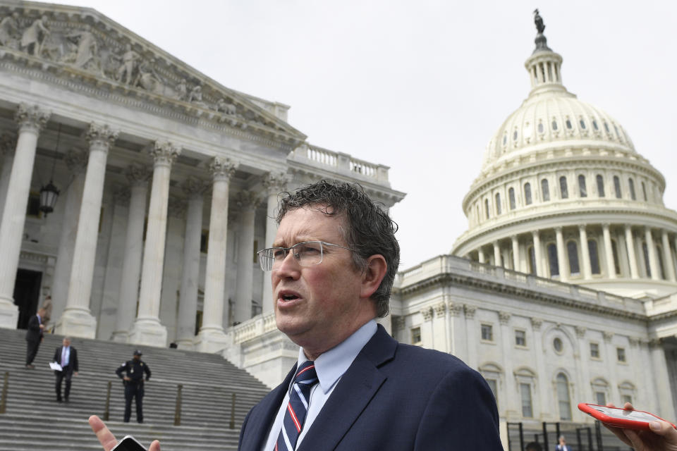
[[[169,175],[171,164],[181,154],[181,148],[158,140],[149,150],[154,159],[153,181],[141,263],[139,309],[129,333],[129,341],[139,345],[164,347],[167,344],[167,329],[160,323],[159,313],[169,204]]]

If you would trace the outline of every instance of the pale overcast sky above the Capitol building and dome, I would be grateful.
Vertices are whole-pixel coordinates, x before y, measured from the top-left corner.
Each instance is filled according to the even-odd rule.
[[[527,97],[538,7],[563,84],[623,125],[677,208],[677,1],[73,0],[222,85],[291,106],[311,144],[390,166],[401,269],[448,253],[484,147]]]

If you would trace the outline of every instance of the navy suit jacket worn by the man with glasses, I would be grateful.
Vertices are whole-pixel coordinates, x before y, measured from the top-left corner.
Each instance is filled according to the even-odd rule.
[[[247,414],[238,450],[261,450],[294,372]],[[297,450],[503,447],[494,395],[480,373],[451,354],[402,345],[379,326]]]

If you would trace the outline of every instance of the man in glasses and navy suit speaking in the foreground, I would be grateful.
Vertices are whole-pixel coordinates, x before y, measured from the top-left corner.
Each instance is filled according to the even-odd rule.
[[[399,245],[396,224],[362,187],[322,180],[286,193],[277,222],[273,247],[258,255],[298,364],[249,412],[239,449],[502,450],[496,402],[477,371],[377,326]],[[112,434],[97,417],[90,424],[109,450]]]

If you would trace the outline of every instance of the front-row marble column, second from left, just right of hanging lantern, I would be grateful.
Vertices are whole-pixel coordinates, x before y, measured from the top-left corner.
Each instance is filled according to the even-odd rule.
[[[90,155],[85,173],[83,202],[80,204],[78,232],[75,235],[73,264],[68,282],[66,309],[56,323],[56,333],[75,337],[94,338],[97,320],[90,311],[92,280],[96,264],[99,218],[104,195],[106,159],[118,132],[108,125],[91,123],[84,134],[90,144]]]

